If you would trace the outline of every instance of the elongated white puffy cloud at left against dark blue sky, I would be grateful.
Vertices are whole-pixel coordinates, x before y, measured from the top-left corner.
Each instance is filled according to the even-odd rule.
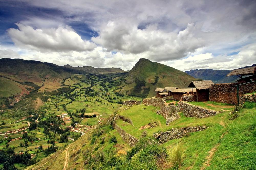
[[[34,29],[16,23],[19,29],[10,28],[8,34],[15,45],[37,51],[91,51],[96,45],[81,39],[71,27]]]

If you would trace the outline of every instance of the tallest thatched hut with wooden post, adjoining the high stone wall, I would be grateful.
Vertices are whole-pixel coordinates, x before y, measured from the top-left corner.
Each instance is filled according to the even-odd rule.
[[[209,87],[214,84],[211,80],[192,81],[188,87],[196,88],[196,101],[208,101],[209,100]],[[191,90],[193,91],[193,90]],[[193,91],[194,92],[194,91]]]

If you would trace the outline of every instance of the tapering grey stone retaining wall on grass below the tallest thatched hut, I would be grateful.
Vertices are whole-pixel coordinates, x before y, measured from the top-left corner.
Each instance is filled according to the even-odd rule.
[[[189,104],[182,101],[179,102],[178,105],[180,107],[180,111],[182,111],[182,113],[186,117],[204,118],[204,117],[215,116],[216,114],[220,113],[218,111],[210,110],[200,106],[195,106],[193,104]]]

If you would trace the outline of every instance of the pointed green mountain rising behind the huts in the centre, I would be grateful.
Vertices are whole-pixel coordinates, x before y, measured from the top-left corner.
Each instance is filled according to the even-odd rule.
[[[122,94],[141,97],[155,96],[156,88],[178,87],[187,88],[191,81],[198,81],[187,73],[164,64],[141,58],[123,77],[120,85]]]

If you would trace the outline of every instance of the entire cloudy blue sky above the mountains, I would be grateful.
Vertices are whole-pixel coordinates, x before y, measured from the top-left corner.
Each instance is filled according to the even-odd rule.
[[[0,58],[182,71],[256,63],[255,0],[0,0]]]

